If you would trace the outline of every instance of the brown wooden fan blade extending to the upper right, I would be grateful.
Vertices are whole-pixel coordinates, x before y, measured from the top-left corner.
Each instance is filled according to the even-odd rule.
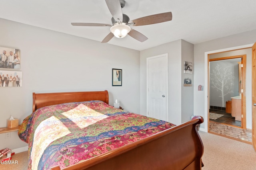
[[[140,25],[150,25],[154,23],[161,23],[172,20],[172,12],[165,12],[161,14],[154,14],[151,16],[145,16],[142,18],[137,18],[135,20],[129,21],[129,23],[134,23],[131,26],[140,26]]]

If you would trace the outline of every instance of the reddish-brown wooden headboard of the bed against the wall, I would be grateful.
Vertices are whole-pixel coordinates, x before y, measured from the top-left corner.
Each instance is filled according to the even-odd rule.
[[[33,112],[44,106],[101,100],[108,104],[108,90],[94,92],[33,93]]]

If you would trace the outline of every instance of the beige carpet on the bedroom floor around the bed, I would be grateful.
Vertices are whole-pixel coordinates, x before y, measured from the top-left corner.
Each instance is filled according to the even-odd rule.
[[[256,152],[252,145],[199,131],[204,144],[202,170],[256,170]],[[27,170],[28,152],[14,154],[18,164],[0,164],[0,170]]]

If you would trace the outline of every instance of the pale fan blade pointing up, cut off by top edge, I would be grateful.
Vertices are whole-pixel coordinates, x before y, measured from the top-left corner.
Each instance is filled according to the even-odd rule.
[[[108,6],[108,10],[114,19],[123,21],[123,12],[119,0],[105,0]]]

